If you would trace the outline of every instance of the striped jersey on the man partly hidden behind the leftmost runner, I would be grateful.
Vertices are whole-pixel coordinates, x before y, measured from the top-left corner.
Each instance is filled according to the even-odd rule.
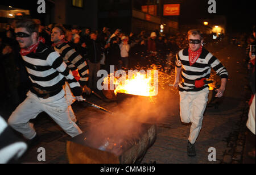
[[[54,49],[60,53],[69,69],[72,71],[78,69],[81,77],[80,85],[86,85],[89,80],[89,67],[84,58],[67,43],[63,43],[59,47],[55,46]]]

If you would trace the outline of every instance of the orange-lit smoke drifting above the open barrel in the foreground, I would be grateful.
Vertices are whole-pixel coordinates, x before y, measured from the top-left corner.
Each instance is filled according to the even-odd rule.
[[[86,131],[90,144],[99,148],[108,141],[109,149],[115,153],[120,148],[135,144],[141,137],[143,123],[161,123],[173,113],[174,108],[177,110],[174,101],[177,97],[177,90],[166,85],[159,88],[156,97],[131,95],[131,98],[123,98],[118,94],[118,105],[110,109],[113,114],[90,120],[92,124]]]

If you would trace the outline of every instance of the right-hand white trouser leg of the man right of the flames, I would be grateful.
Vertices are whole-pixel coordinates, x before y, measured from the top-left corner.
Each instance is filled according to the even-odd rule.
[[[193,95],[193,104],[192,104],[192,116],[191,116],[191,129],[189,135],[189,141],[192,144],[196,143],[196,139],[199,136],[199,133],[202,128],[204,111],[207,107],[209,90],[205,89],[199,92],[199,94]]]

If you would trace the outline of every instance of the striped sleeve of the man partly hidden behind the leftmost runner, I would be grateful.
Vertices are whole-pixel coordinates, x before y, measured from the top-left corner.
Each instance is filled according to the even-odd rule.
[[[62,54],[64,55],[64,60],[67,60],[67,62],[71,63],[71,64],[68,64],[68,67],[79,69],[79,75],[81,77],[79,82],[81,86],[86,85],[89,80],[89,66],[87,62],[72,47],[65,45],[64,48],[65,49],[63,49],[63,52],[62,52]]]

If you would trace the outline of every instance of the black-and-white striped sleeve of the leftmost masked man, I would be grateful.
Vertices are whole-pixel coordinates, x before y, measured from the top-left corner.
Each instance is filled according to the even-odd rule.
[[[67,64],[63,61],[62,57],[57,52],[52,52],[47,57],[47,62],[52,66],[53,69],[57,70],[67,79],[69,86],[73,95],[80,96],[82,94],[82,89],[79,82],[73,77],[71,70],[69,70]]]

